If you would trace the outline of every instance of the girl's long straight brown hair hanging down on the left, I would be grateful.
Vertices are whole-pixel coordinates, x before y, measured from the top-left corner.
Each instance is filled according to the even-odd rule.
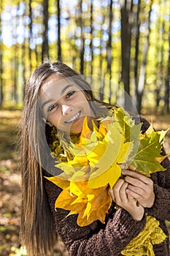
[[[21,119],[20,164],[22,172],[22,211],[20,240],[26,246],[28,255],[49,255],[58,239],[53,216],[43,187],[45,167],[42,159],[47,155],[47,140],[43,126],[39,95],[42,83],[50,75],[71,78],[84,91],[90,102],[98,102],[93,97],[89,84],[66,64],[46,62],[35,69],[26,86],[26,94]],[[93,106],[91,106],[93,108]],[[97,108],[98,109],[98,108]],[[94,111],[95,112],[95,111]],[[98,113],[101,113],[98,109]],[[46,135],[50,127],[46,125]],[[46,143],[45,143],[46,141]],[[45,151],[46,150],[46,151]],[[42,157],[43,152],[43,157]],[[45,153],[46,152],[46,153]]]

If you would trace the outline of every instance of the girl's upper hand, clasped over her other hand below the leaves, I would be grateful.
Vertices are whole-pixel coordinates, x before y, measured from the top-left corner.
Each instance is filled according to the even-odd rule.
[[[127,195],[134,197],[141,206],[151,208],[155,201],[152,179],[136,173],[135,167],[130,168],[131,170],[122,170],[125,182],[128,183]]]

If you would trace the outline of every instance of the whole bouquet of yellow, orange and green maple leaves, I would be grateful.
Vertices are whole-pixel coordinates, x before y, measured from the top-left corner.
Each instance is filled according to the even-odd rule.
[[[79,143],[71,143],[66,162],[57,162],[63,170],[59,176],[47,178],[62,192],[55,201],[55,208],[78,214],[77,224],[89,225],[104,219],[112,203],[109,189],[121,176],[120,165],[134,165],[146,175],[165,170],[161,155],[166,131],[155,132],[152,125],[142,134],[142,124],[135,124],[122,108],[115,108],[113,116],[99,121],[98,127],[83,123]]]

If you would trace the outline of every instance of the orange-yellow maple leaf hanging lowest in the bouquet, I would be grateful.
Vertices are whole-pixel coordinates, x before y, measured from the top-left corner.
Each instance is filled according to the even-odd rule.
[[[96,219],[104,223],[105,216],[112,202],[109,187],[90,189],[85,182],[70,182],[55,201],[55,208],[64,208],[71,214],[78,214],[77,224],[89,225]]]

